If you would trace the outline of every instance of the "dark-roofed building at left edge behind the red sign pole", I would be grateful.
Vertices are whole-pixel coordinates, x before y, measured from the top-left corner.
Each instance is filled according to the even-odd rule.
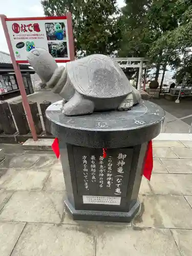
[[[22,72],[22,77],[24,81],[24,86],[26,93],[33,93],[33,86],[31,82],[31,74],[35,71],[28,64],[19,64],[20,71]],[[8,53],[0,51],[0,99],[10,98],[20,95],[18,88],[15,72],[13,69],[11,57]]]

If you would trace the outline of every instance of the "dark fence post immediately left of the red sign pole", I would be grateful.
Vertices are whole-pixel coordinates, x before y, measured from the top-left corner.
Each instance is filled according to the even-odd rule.
[[[13,102],[9,104],[13,113],[19,134],[28,134],[30,132],[29,124],[25,114],[22,102]]]

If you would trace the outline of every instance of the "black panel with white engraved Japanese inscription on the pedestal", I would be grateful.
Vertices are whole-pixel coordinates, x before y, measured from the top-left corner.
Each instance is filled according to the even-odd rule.
[[[78,194],[81,196],[125,197],[133,148],[73,147]]]

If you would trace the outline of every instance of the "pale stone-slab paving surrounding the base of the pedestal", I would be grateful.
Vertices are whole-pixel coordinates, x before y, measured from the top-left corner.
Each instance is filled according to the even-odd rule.
[[[52,152],[0,145],[1,256],[191,256],[192,142],[154,141],[152,179],[132,223],[73,221]]]

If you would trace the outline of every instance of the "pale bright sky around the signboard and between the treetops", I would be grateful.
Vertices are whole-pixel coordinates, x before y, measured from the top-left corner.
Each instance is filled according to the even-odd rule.
[[[124,0],[117,0],[122,7]],[[44,16],[40,0],[0,0],[0,12],[11,17],[38,17]],[[0,51],[9,52],[4,31],[0,22]]]

